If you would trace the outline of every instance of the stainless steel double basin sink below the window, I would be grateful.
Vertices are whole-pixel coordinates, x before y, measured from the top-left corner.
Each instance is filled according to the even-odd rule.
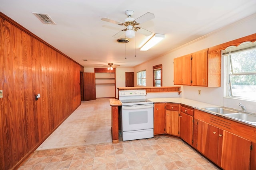
[[[250,124],[256,124],[256,115],[248,112],[236,111],[225,107],[206,107],[202,108],[210,112],[218,113],[226,117],[231,117],[236,120],[244,121]]]

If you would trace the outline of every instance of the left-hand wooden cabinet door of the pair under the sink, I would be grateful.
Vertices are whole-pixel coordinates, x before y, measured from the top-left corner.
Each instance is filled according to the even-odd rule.
[[[216,164],[218,158],[218,135],[218,127],[198,120],[197,149]]]

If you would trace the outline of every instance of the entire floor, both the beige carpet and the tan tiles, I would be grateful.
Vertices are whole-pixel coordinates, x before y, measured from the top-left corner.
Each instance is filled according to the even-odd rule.
[[[82,104],[19,170],[218,170],[176,137],[112,144],[109,99]]]

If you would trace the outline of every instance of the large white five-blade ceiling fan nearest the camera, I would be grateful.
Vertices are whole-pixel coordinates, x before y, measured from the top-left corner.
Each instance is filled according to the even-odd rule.
[[[125,14],[128,18],[126,18],[124,20],[124,23],[119,22],[119,21],[114,21],[114,20],[111,20],[111,19],[108,19],[108,18],[102,18],[101,19],[102,21],[107,21],[107,22],[110,22],[110,23],[115,23],[115,24],[118,24],[118,25],[126,26],[126,29],[122,29],[121,31],[119,31],[118,33],[113,35],[113,37],[120,37],[122,34],[124,34],[124,31],[125,31],[126,37],[128,37],[128,38],[133,38],[135,36],[135,31],[138,31],[138,30],[139,30],[138,32],[140,32],[141,34],[146,35],[146,36],[149,36],[149,35],[152,34],[151,31],[148,31],[148,30],[146,30],[142,27],[137,27],[137,25],[139,25],[143,22],[152,20],[153,18],[155,18],[154,14],[152,14],[150,12],[147,12],[146,14],[140,16],[137,19],[132,18],[133,14],[134,14],[133,10],[127,10],[125,12]]]

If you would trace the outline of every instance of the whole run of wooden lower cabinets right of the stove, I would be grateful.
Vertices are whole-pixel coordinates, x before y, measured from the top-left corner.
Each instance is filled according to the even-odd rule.
[[[156,103],[154,135],[158,134],[179,136],[224,170],[255,169],[256,131],[247,125],[182,104]]]

